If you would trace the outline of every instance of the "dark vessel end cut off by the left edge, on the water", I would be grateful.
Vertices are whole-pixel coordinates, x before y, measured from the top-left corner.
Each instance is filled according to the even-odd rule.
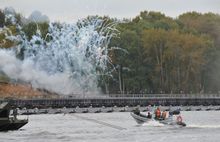
[[[18,130],[28,123],[28,119],[17,119],[17,110],[10,116],[11,105],[8,102],[0,104],[0,131]]]

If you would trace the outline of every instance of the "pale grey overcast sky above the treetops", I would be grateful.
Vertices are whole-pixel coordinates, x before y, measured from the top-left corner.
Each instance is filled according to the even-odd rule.
[[[72,22],[88,15],[133,18],[140,11],[160,11],[177,17],[187,11],[220,14],[220,0],[0,0],[0,8],[13,7],[28,17],[38,10],[51,21]]]

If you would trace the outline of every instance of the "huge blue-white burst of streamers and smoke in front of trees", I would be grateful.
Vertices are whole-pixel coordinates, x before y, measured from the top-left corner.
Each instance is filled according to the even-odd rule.
[[[0,70],[14,80],[59,94],[97,94],[99,77],[111,75],[108,44],[115,31],[114,24],[99,18],[51,23],[45,39],[37,30],[28,40],[20,30],[16,36],[6,35],[20,44],[0,49]]]

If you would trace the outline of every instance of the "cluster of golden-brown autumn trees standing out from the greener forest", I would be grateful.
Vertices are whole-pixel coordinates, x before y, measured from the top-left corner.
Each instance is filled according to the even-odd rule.
[[[205,53],[211,47],[209,39],[175,30],[150,29],[143,32],[142,40],[146,60],[154,65],[152,76],[158,92],[201,90]]]

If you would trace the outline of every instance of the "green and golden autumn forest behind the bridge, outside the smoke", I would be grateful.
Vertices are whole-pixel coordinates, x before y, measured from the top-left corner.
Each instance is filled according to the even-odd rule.
[[[6,38],[5,33],[9,31],[2,30],[3,27],[7,27],[10,34],[16,35],[19,34],[16,24],[19,24],[29,40],[36,34],[37,27],[43,37],[49,32],[48,21],[28,21],[19,13],[15,13],[15,18],[14,23],[11,22],[5,11],[0,10],[2,49],[19,44]],[[220,92],[219,14],[187,12],[177,18],[170,18],[160,12],[142,11],[131,20],[99,18],[117,22],[119,34],[112,38],[109,46],[126,51],[110,52],[109,57],[115,70],[111,77],[101,76],[98,81],[104,94]],[[22,57],[18,58],[22,60]],[[1,69],[0,82],[11,82]],[[2,84],[0,87],[4,86]]]

